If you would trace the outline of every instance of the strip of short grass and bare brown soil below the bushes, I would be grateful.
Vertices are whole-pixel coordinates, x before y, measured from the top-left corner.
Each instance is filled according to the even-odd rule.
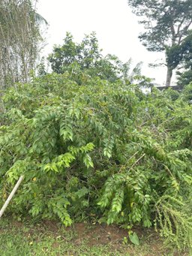
[[[127,230],[115,225],[74,224],[65,228],[54,221],[32,224],[31,221],[0,221],[1,256],[51,256],[51,255],[124,255],[170,256],[190,255],[167,249],[157,233],[152,230],[135,230],[140,245],[129,242]]]

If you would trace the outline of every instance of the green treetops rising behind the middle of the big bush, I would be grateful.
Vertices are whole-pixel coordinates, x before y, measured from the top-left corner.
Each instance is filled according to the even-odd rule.
[[[146,78],[140,75],[142,62],[131,68],[131,59],[128,62],[121,62],[115,55],[103,56],[95,32],[86,35],[79,44],[74,42],[71,33],[67,32],[64,44],[55,46],[48,60],[52,71],[58,74],[68,71],[77,77],[79,84],[82,83],[82,73],[110,82],[119,79],[125,83],[132,83],[134,80],[140,84],[146,82]]]

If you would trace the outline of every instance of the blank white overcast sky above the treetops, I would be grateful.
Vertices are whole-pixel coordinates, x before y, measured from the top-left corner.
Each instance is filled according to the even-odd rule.
[[[161,86],[165,83],[165,67],[148,68],[148,63],[162,62],[163,53],[151,53],[142,46],[138,35],[143,28],[127,0],[38,0],[37,12],[49,23],[43,54],[51,53],[54,44],[62,44],[66,32],[77,42],[96,32],[104,56],[111,53],[123,62],[131,58],[133,67],[143,62],[143,75]]]

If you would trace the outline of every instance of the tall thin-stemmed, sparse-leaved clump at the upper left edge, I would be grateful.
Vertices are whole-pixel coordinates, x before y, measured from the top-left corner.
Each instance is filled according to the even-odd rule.
[[[34,70],[43,20],[34,4],[29,0],[0,1],[0,88],[28,82]]]

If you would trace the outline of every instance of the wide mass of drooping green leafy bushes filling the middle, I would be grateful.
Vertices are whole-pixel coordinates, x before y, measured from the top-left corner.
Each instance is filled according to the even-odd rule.
[[[184,95],[68,73],[10,89],[0,127],[0,203],[14,214],[160,227],[191,243],[192,111]],[[186,206],[187,205],[187,206]]]

